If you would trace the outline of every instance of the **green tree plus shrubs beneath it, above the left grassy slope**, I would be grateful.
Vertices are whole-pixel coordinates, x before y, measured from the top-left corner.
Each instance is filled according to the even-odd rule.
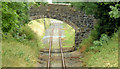
[[[10,32],[18,41],[32,39],[31,29],[24,25],[29,22],[29,7],[34,3],[27,2],[2,2],[2,35],[3,39]],[[23,28],[23,29],[22,29]],[[28,29],[27,29],[28,28]],[[26,30],[25,32],[23,30]],[[28,33],[28,34],[27,34]],[[4,37],[5,36],[5,37]]]

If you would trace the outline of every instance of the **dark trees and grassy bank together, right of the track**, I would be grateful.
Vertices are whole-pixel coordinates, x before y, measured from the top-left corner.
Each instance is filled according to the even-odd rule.
[[[118,67],[119,2],[77,2],[72,5],[97,19],[91,34],[79,47],[85,56],[83,66]]]

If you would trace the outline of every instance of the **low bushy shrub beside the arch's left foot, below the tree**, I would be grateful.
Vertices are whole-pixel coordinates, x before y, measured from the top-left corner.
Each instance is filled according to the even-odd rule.
[[[16,33],[17,32],[17,33]],[[11,32],[12,36],[16,38],[18,41],[24,41],[24,40],[36,40],[36,34],[31,30],[30,27],[27,25],[22,26],[19,30]]]

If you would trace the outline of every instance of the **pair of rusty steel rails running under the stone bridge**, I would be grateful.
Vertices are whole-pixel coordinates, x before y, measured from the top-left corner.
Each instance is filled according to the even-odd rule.
[[[47,62],[47,69],[51,68],[51,51],[52,51],[53,32],[54,32],[54,27],[52,28],[52,31],[50,33],[49,56],[48,56],[48,62]],[[60,53],[61,53],[62,69],[66,69],[66,64],[65,64],[65,59],[64,59],[64,55],[63,55],[63,49],[62,49],[61,28],[59,28],[59,46],[60,46]]]

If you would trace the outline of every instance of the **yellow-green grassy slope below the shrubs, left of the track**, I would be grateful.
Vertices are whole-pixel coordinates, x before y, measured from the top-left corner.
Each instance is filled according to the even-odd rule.
[[[35,43],[35,41],[32,41]],[[28,42],[26,44],[16,41],[10,34],[7,39],[2,41],[2,66],[3,67],[33,67],[37,66],[37,56],[39,47],[33,45],[31,47]],[[9,62],[9,63],[8,63]]]

